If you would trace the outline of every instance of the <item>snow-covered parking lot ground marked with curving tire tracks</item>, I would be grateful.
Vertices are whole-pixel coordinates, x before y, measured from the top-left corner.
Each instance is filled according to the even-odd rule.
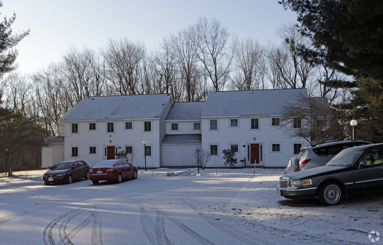
[[[160,168],[57,186],[45,171],[0,175],[1,244],[383,244],[381,192],[331,207],[289,200],[275,191],[281,169]]]

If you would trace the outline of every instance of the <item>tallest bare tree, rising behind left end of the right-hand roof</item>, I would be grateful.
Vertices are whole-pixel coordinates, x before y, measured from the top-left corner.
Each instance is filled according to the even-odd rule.
[[[216,18],[203,16],[196,24],[197,55],[204,65],[204,73],[213,83],[214,91],[225,87],[231,72],[231,63],[237,45],[237,36],[231,35]],[[231,43],[229,38],[232,36]]]

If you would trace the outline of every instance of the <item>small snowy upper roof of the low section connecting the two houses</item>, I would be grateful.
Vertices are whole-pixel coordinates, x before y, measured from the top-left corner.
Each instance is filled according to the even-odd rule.
[[[174,103],[166,120],[200,120],[205,102]]]

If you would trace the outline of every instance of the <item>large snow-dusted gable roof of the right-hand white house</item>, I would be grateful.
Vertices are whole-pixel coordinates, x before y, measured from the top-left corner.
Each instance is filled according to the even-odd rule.
[[[268,115],[307,96],[306,88],[210,92],[201,116]]]

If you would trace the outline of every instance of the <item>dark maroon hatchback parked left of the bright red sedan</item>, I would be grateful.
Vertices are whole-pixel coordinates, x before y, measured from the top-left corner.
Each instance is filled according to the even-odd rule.
[[[45,185],[70,184],[81,178],[89,179],[89,165],[83,160],[59,162],[43,175]]]

